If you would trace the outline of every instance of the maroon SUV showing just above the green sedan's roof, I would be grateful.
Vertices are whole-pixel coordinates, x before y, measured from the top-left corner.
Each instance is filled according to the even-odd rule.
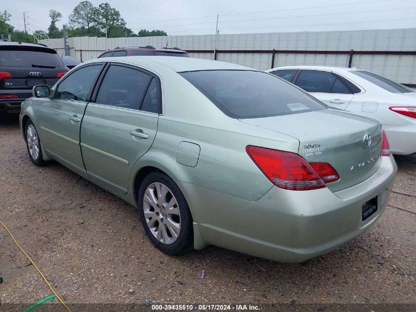
[[[162,56],[182,56],[189,57],[188,52],[179,48],[155,48],[151,45],[144,47],[117,47],[112,50],[108,50],[101,54],[101,57],[115,57],[115,56],[134,56],[134,55],[162,55]]]

